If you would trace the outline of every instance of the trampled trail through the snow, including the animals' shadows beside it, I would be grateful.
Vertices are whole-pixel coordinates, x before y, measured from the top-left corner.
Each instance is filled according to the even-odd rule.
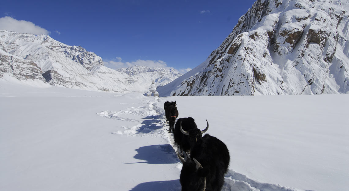
[[[138,154],[134,156],[136,159],[145,160],[143,162],[135,163],[147,163],[147,164],[176,164],[178,169],[181,169],[181,163],[177,158],[178,148],[173,144],[173,134],[168,133],[168,124],[165,123],[165,112],[163,104],[165,101],[163,98],[157,100],[147,100],[144,102],[146,106],[140,106],[138,108],[130,107],[120,111],[102,111],[97,115],[122,120],[139,122],[138,125],[123,127],[125,130],[111,132],[111,134],[120,134],[125,136],[160,136],[168,142],[165,145],[150,145],[144,146],[136,150]],[[120,103],[122,104],[122,103]],[[132,116],[145,116],[143,121],[132,119]],[[151,154],[149,154],[151,153]],[[133,164],[133,163],[132,163]],[[179,178],[179,177],[178,177]],[[172,181],[154,181],[137,185],[132,191],[139,190],[181,190],[178,180]],[[251,180],[243,174],[236,173],[233,170],[229,170],[225,175],[225,182],[222,191],[300,191],[299,189],[289,188],[286,186],[260,183],[258,181]]]

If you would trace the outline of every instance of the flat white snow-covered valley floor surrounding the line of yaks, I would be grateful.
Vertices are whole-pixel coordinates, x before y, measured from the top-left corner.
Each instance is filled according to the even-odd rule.
[[[144,97],[0,81],[0,190],[181,190],[163,104],[227,144],[222,190],[348,190],[349,95]]]

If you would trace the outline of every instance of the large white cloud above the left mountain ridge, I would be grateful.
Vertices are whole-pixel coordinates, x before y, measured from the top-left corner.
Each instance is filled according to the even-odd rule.
[[[5,16],[0,18],[0,29],[7,31],[14,31],[20,33],[31,33],[31,34],[50,34],[46,29],[35,25],[30,21],[18,21],[15,18]]]

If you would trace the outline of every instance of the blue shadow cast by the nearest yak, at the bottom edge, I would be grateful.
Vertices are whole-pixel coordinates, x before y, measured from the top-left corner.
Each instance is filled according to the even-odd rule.
[[[173,191],[180,189],[181,186],[178,179],[171,181],[144,182],[136,185],[130,191]]]

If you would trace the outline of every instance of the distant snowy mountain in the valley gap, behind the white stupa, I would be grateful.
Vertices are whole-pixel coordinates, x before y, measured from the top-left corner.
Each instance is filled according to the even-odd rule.
[[[139,84],[149,84],[153,82],[157,87],[164,86],[174,79],[180,77],[182,74],[174,69],[163,69],[159,67],[148,66],[131,66],[128,68],[121,68],[117,70],[121,73],[127,73],[132,76]]]

